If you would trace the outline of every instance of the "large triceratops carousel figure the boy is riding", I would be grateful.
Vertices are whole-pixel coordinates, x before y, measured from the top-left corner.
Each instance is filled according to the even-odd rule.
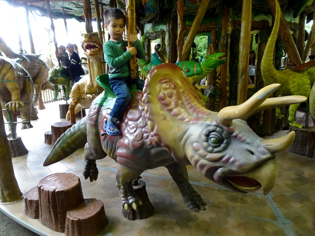
[[[242,119],[260,110],[306,100],[303,96],[268,98],[279,86],[269,85],[245,103],[217,113],[204,108],[180,67],[157,65],[150,71],[143,93],[135,92],[117,123],[121,136],[106,134],[104,122],[110,110],[94,101],[88,116],[57,140],[44,166],[66,158],[86,143],[84,177],[97,179],[95,160],[106,155],[115,160],[116,186],[126,210],[136,210],[142,204],[132,181],[159,166],[169,170],[192,211],[205,210],[206,203],[189,183],[186,165],[233,191],[262,188],[268,194],[277,178],[275,153],[287,149],[295,133],[263,140]]]

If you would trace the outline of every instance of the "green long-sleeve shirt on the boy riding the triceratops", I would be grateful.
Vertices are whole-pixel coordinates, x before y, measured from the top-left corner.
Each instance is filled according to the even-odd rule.
[[[144,49],[139,39],[133,42],[137,48],[137,58],[145,57]],[[107,41],[104,43],[104,58],[109,66],[109,77],[128,77],[130,73],[129,59],[132,54],[127,50],[128,42],[126,41]]]

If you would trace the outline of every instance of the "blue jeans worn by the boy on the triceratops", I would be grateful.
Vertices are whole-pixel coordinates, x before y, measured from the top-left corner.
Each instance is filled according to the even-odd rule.
[[[131,94],[129,92],[130,79],[127,77],[110,77],[109,83],[114,93],[118,96],[115,101],[115,105],[111,111],[110,116],[113,117],[113,121],[117,122],[125,112],[130,99]],[[138,79],[137,89],[142,90],[144,87],[144,81]]]

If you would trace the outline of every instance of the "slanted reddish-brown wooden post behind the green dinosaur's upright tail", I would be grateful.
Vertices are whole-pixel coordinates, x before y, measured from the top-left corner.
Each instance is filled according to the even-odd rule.
[[[275,0],[268,0],[270,9],[272,12],[272,15],[276,15],[276,3]],[[295,62],[297,65],[300,65],[302,63],[300,55],[297,51],[296,45],[293,41],[289,26],[287,24],[287,21],[284,18],[284,14],[281,11],[281,17],[280,17],[280,25],[279,25],[279,34],[281,36],[281,39],[284,43],[285,50],[290,58],[291,62]]]

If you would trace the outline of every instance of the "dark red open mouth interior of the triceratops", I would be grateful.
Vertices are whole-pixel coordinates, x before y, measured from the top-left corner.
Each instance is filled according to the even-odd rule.
[[[261,188],[261,184],[258,181],[245,176],[227,176],[226,180],[235,188],[246,193],[252,193]]]

